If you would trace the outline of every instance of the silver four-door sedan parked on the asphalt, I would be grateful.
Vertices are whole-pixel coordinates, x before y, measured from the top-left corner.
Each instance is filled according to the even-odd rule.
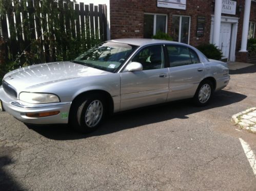
[[[32,124],[69,123],[91,132],[109,113],[192,98],[206,105],[230,80],[226,63],[186,44],[115,39],[72,61],[7,73],[0,109]]]

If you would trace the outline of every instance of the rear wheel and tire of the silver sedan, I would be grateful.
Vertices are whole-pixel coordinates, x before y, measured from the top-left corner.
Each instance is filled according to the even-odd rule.
[[[205,106],[209,103],[213,93],[213,84],[210,80],[203,80],[195,92],[193,101],[196,106]]]

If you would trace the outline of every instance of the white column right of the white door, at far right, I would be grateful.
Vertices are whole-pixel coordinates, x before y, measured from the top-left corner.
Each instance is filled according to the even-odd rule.
[[[239,52],[247,52],[246,47],[247,47],[250,11],[251,11],[251,0],[245,0],[242,43],[241,43],[241,50]]]

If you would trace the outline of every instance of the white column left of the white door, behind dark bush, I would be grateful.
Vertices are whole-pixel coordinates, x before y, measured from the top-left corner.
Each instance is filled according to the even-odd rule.
[[[222,0],[215,0],[212,43],[217,47],[219,47],[219,41],[220,41],[221,9],[222,9]]]

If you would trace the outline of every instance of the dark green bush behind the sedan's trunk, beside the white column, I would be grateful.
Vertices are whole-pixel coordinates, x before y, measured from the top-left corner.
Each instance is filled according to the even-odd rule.
[[[223,56],[221,50],[213,44],[203,44],[196,48],[209,59],[220,60]]]

